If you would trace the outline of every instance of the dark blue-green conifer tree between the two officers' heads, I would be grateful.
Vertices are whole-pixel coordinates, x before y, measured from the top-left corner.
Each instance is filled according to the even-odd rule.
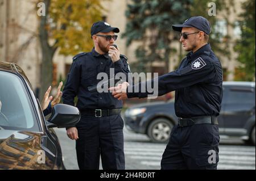
[[[126,32],[127,45],[134,41],[141,42],[135,51],[137,62],[133,71],[151,71],[154,61],[164,62],[166,72],[169,68],[169,58],[174,49],[171,25],[184,22],[189,16],[192,0],[131,0],[127,5]],[[177,34],[174,36],[177,36]]]

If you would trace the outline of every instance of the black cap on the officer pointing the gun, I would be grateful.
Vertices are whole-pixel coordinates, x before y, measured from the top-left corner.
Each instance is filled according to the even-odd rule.
[[[194,16],[185,20],[183,24],[173,24],[172,29],[181,32],[183,27],[195,27],[209,35],[210,33],[210,23],[203,16]]]

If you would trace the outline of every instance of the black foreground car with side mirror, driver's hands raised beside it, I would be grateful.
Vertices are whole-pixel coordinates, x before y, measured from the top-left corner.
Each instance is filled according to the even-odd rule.
[[[79,110],[65,104],[46,120],[23,70],[0,62],[0,169],[65,169],[53,127],[79,120]]]

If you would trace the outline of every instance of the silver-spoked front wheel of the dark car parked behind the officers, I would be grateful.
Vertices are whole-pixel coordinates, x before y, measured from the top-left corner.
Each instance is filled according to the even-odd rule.
[[[147,129],[147,135],[153,142],[167,142],[174,125],[165,118],[152,121]]]

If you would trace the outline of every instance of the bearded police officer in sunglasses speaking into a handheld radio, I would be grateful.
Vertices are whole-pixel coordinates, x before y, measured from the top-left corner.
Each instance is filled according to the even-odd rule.
[[[113,98],[110,92],[90,91],[97,85],[99,73],[112,77],[130,72],[127,58],[113,46],[119,29],[106,22],[96,22],[91,27],[94,47],[91,52],[73,57],[63,90],[63,103],[76,107],[81,119],[76,127],[67,128],[67,135],[76,140],[76,153],[79,169],[99,169],[100,156],[103,169],[125,169],[123,153],[123,119],[120,115],[122,100]],[[127,81],[127,80],[126,80]]]

